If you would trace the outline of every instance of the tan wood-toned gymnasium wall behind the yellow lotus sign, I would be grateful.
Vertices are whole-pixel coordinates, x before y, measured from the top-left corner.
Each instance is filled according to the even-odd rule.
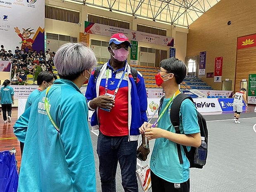
[[[222,81],[229,78],[232,81],[232,90],[235,91],[240,88],[238,82],[242,78],[248,81],[249,73],[256,73],[254,60],[242,62],[246,68],[237,66],[236,76],[237,38],[256,33],[255,7],[255,0],[221,0],[190,25],[187,35],[187,56],[199,55],[199,52],[206,51],[206,73],[214,72],[215,57],[223,57]],[[232,21],[229,26],[228,21]],[[255,58],[253,50],[246,54],[252,54]],[[244,70],[239,73],[241,69]],[[213,83],[213,78],[206,78],[206,75],[199,78],[212,88],[221,90],[221,83]],[[238,83],[236,86],[235,78]]]

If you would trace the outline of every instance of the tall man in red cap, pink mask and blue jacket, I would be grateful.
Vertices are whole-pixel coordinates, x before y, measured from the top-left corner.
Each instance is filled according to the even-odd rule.
[[[131,74],[126,61],[129,47],[131,44],[123,33],[111,37],[108,47],[111,58],[100,73],[92,71],[85,93],[88,107],[95,110],[92,129],[100,129],[97,154],[102,192],[116,192],[118,162],[124,191],[138,191],[136,151],[139,128],[147,121],[147,92],[142,75],[138,72],[135,82]],[[147,145],[144,147],[148,148]],[[140,149],[143,154],[149,152],[143,147]]]

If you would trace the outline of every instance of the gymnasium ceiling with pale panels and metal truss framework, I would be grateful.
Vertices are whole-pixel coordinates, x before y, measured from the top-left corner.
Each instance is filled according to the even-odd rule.
[[[188,27],[220,0],[68,0]]]

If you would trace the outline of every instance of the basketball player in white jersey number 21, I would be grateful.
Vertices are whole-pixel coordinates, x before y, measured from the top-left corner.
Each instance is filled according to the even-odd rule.
[[[246,107],[248,107],[246,96],[245,96],[244,92],[246,92],[246,89],[241,88],[241,90],[239,92],[236,92],[233,95],[233,98],[235,98],[234,102],[233,102],[233,110],[235,111],[235,113],[234,113],[234,122],[235,123],[240,123],[240,121],[238,121],[238,119],[240,117],[240,113],[243,111],[243,100],[246,104]]]

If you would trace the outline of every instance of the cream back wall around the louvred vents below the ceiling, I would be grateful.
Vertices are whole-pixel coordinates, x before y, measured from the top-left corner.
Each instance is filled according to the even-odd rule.
[[[72,24],[69,22],[64,21],[58,21],[53,19],[45,19],[45,32],[47,33],[57,33],[61,35],[67,35],[67,36],[73,36],[78,37],[79,39],[79,32],[84,31],[84,21],[87,21],[87,14],[94,14],[101,17],[107,17],[110,19],[118,19],[121,21],[126,21],[130,23],[130,29],[136,30],[137,24],[142,24],[145,26],[151,26],[161,29],[166,29],[166,36],[174,37],[174,43],[176,48],[176,57],[185,60],[186,57],[186,43],[187,43],[187,28],[182,27],[174,27],[171,24],[164,24],[160,22],[150,21],[147,19],[141,19],[141,18],[135,18],[131,15],[127,14],[120,14],[117,12],[109,12],[105,9],[95,8],[95,7],[89,7],[87,5],[79,5],[71,2],[63,2],[61,0],[45,0],[45,5],[53,6],[53,7],[59,7],[62,9],[69,9],[73,11],[80,12],[80,21],[81,24]],[[108,37],[100,37],[97,35],[91,35],[90,39],[96,39],[96,40],[105,40],[108,41]],[[169,47],[166,46],[159,46],[154,45],[150,43],[142,43],[139,42],[138,46],[142,47],[149,47],[149,48],[157,48],[162,50],[168,50],[169,54]]]

